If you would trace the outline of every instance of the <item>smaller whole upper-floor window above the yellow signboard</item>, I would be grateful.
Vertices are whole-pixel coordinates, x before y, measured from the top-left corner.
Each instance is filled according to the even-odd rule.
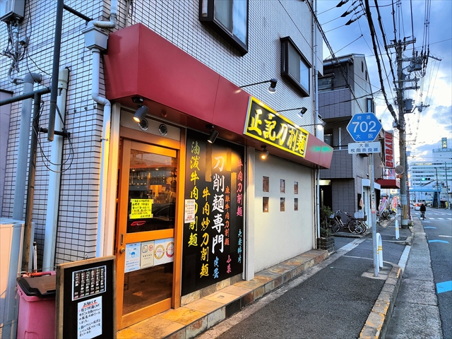
[[[291,81],[304,97],[309,97],[311,64],[290,37],[281,38],[281,75]]]

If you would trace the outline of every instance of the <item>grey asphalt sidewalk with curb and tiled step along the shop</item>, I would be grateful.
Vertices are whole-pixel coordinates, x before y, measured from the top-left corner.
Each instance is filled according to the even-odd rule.
[[[401,244],[412,239],[409,229],[400,229],[400,239],[395,239],[393,224],[377,227],[385,261],[378,277],[373,276],[370,230],[358,238],[335,237],[333,254],[307,251],[256,273],[253,280],[124,328],[118,338],[274,338],[281,333],[285,338],[381,338],[402,278],[397,263],[408,258]],[[268,300],[273,302],[266,304]],[[294,300],[299,300],[296,309]],[[332,314],[326,321],[328,312]],[[280,332],[281,319],[285,326],[295,324],[296,329],[287,332],[292,337]],[[331,336],[332,329],[340,332]]]

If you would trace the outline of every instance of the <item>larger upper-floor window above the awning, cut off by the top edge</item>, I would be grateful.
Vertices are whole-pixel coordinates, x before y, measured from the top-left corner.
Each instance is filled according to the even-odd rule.
[[[242,55],[248,52],[248,0],[200,0],[199,20],[222,35]]]

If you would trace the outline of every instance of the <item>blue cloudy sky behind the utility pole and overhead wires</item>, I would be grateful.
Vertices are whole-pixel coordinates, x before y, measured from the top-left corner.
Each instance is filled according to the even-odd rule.
[[[393,76],[397,78],[396,50],[384,48],[383,34],[379,25],[379,15],[376,11],[377,1],[381,23],[383,25],[386,44],[393,44],[393,40],[412,40],[415,37],[414,49],[421,53],[429,50],[429,58],[424,72],[405,73],[410,78],[420,78],[419,90],[405,90],[405,98],[415,100],[413,107],[428,105],[413,113],[405,114],[406,145],[410,156],[409,162],[432,160],[432,149],[440,148],[441,138],[448,138],[448,148],[452,148],[452,1],[451,0],[369,0],[371,19],[374,22],[376,39],[379,40],[381,52],[380,61],[385,79],[385,90],[388,101],[395,107],[396,93],[393,91]],[[348,0],[343,6],[336,7],[340,0],[318,0],[317,17],[325,32],[328,44],[333,49],[335,57],[347,54],[364,54],[372,85],[376,95],[376,117],[381,119],[383,129],[393,130],[393,117],[386,107],[381,91],[379,72],[374,54],[374,47],[369,30],[369,22],[364,13],[364,0]],[[345,2],[343,0],[342,2]],[[362,3],[362,5],[360,4]],[[355,8],[355,10],[353,10]],[[341,18],[346,11],[352,13]],[[394,13],[394,15],[393,15]],[[359,17],[360,16],[360,17]],[[359,17],[359,18],[358,18]],[[345,25],[350,19],[355,19],[350,25]],[[403,52],[404,58],[412,57],[413,44],[407,45]],[[330,50],[323,44],[323,59],[331,57]],[[440,59],[441,61],[439,61]],[[405,62],[403,66],[408,66]],[[386,69],[386,71],[385,71]],[[414,85],[407,83],[405,87]],[[398,155],[398,133],[395,131],[394,148]]]

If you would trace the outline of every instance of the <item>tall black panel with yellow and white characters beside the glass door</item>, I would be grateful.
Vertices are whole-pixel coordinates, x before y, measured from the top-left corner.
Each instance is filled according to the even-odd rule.
[[[242,273],[244,177],[242,147],[187,131],[182,295]]]

